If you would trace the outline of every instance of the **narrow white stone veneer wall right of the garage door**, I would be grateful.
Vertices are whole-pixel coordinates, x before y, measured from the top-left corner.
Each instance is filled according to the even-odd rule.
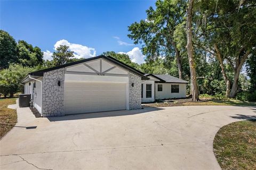
[[[134,83],[133,87],[132,83]],[[141,77],[131,72],[129,72],[129,109],[141,109]]]

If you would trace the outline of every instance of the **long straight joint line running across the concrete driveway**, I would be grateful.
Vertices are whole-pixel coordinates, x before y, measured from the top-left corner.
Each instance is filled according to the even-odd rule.
[[[99,149],[80,149],[80,150],[62,150],[62,151],[47,151],[47,152],[32,152],[32,153],[16,153],[16,154],[10,154],[10,155],[0,155],[0,157],[2,157],[2,156],[11,156],[11,155],[17,155],[17,156],[19,156],[19,155],[31,155],[31,154],[38,154],[38,153],[57,153],[57,152],[93,151],[93,150],[125,149],[125,148],[162,147],[164,145],[193,144],[193,143],[205,143],[205,142],[213,142],[213,140],[210,140],[210,141],[196,141],[196,142],[180,142],[180,143],[160,143],[160,144],[150,144],[150,145],[138,145],[138,146],[128,146],[128,147],[112,147],[112,148],[99,148]]]

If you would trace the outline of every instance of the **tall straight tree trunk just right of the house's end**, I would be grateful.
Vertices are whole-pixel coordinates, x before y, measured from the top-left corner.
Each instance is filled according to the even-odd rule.
[[[188,51],[188,60],[190,67],[190,77],[191,77],[191,94],[192,100],[198,101],[198,88],[196,82],[196,67],[195,67],[195,59],[193,55],[193,44],[192,44],[192,9],[193,9],[194,0],[188,1],[188,9],[187,9],[187,51]]]

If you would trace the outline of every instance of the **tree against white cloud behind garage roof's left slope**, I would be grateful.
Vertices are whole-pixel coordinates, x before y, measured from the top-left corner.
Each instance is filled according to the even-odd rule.
[[[70,59],[74,57],[74,52],[68,50],[69,46],[60,45],[57,47],[57,51],[53,52],[53,64],[54,66],[60,66],[70,62]]]

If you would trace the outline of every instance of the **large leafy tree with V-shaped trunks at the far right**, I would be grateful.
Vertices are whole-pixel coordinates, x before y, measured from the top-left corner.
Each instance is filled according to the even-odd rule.
[[[226,96],[230,98],[238,93],[241,69],[256,50],[255,6],[255,1],[202,1],[201,16],[205,16],[206,24],[200,33],[203,35],[201,45],[218,59],[226,83]],[[227,74],[226,65],[232,70],[233,81]]]

